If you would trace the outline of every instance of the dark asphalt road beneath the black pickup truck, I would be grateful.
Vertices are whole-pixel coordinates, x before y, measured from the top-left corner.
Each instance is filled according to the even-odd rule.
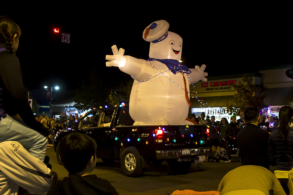
[[[58,164],[52,145],[48,145],[47,155],[50,156],[52,170],[58,173],[59,180],[67,177],[68,172],[62,165]],[[175,190],[184,189],[195,191],[217,190],[222,177],[238,166],[240,164],[236,162],[203,162],[196,166],[193,163],[187,174],[176,175],[164,162],[161,167],[151,167],[143,176],[132,178],[122,173],[120,162],[115,161],[113,165],[107,165],[101,159],[97,159],[96,168],[92,174],[110,181],[120,195],[164,195],[166,192],[171,194]]]

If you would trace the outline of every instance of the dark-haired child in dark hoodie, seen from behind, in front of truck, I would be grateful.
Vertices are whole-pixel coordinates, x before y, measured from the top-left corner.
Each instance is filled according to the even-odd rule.
[[[57,150],[68,177],[59,180],[48,195],[58,194],[115,194],[117,191],[109,181],[91,172],[96,167],[96,141],[81,133],[72,133],[62,138]]]

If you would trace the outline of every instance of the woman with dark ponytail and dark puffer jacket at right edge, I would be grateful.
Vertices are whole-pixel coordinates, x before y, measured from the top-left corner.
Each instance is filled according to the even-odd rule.
[[[268,158],[276,166],[275,176],[286,194],[289,194],[288,173],[293,168],[293,108],[280,108],[279,118],[278,128],[269,137]]]

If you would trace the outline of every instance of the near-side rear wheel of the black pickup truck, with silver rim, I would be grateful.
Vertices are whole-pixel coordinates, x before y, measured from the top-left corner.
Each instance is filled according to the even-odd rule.
[[[140,154],[135,147],[128,147],[122,152],[121,168],[129,177],[136,177],[143,174]]]

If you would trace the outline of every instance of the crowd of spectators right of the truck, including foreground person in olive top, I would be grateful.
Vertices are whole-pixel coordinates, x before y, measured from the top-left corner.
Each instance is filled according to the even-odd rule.
[[[198,118],[209,127],[212,152],[206,161],[241,163],[222,179],[221,194],[293,194],[293,108],[283,106],[279,118],[270,116],[267,121],[259,113],[258,108],[247,108],[240,119],[231,116],[230,123],[226,118],[214,121],[214,116],[208,121],[204,113]]]

